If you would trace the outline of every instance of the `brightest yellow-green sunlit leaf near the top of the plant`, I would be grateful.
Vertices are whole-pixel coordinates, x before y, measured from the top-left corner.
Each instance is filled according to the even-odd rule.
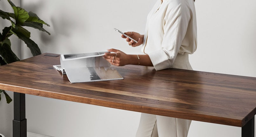
[[[14,10],[17,25],[22,24],[29,18],[29,14],[25,9],[22,9],[20,7],[12,7],[12,9]]]

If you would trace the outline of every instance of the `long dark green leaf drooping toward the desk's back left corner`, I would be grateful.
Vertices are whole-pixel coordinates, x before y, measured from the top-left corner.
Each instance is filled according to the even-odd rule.
[[[37,56],[42,54],[38,45],[31,40],[30,38],[24,36],[24,34],[20,33],[19,31],[17,31],[16,29],[12,29],[10,30],[13,34],[15,34],[19,39],[23,40],[25,42],[25,44],[27,45],[27,47],[29,47],[31,53],[33,54],[33,56]]]

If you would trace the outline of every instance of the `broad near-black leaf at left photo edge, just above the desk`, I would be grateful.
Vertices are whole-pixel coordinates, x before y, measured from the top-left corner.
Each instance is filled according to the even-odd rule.
[[[0,47],[0,55],[7,64],[19,61],[19,58],[12,52],[11,46],[3,43]]]

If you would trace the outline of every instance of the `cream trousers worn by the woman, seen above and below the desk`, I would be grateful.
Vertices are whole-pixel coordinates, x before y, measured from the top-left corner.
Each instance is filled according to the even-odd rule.
[[[188,54],[178,54],[172,64],[176,69],[192,67]],[[136,137],[187,137],[191,120],[141,113]]]

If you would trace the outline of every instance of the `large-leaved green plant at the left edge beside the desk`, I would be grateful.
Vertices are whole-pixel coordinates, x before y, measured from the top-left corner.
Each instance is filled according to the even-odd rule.
[[[9,63],[13,63],[19,61],[20,59],[13,53],[11,50],[11,42],[8,39],[12,34],[16,35],[19,39],[23,40],[27,47],[30,49],[33,56],[37,56],[41,54],[41,51],[38,45],[30,39],[30,32],[24,28],[33,27],[35,29],[44,31],[51,35],[43,28],[43,24],[48,25],[43,20],[41,20],[35,13],[27,12],[25,9],[21,7],[15,6],[10,0],[7,0],[10,3],[14,13],[4,12],[0,9],[0,17],[3,19],[7,19],[10,21],[9,27],[4,27],[3,32],[0,33],[0,65],[5,65]],[[1,101],[1,93],[5,95],[6,102],[10,103],[12,99],[10,96],[4,91],[0,90],[0,101]]]

